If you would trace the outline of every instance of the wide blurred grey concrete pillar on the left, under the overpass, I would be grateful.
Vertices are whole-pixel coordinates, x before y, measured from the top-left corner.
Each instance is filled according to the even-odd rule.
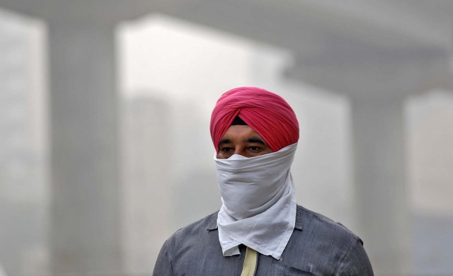
[[[111,275],[121,270],[114,28],[62,14],[48,23],[52,269]]]

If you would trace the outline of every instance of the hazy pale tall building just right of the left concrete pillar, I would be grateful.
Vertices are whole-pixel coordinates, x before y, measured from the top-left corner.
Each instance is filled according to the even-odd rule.
[[[125,271],[147,274],[173,214],[171,108],[142,93],[122,102],[122,212]]]

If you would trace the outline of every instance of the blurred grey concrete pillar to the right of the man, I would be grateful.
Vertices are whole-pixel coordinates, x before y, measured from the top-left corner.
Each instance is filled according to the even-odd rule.
[[[352,96],[351,103],[359,234],[377,272],[408,272],[403,99]]]

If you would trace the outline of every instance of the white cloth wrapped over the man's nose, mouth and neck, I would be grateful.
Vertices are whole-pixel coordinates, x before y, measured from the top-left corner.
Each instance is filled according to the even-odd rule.
[[[217,159],[222,207],[217,217],[224,256],[239,254],[239,245],[280,259],[296,222],[291,164],[297,143],[280,151],[247,158]]]

